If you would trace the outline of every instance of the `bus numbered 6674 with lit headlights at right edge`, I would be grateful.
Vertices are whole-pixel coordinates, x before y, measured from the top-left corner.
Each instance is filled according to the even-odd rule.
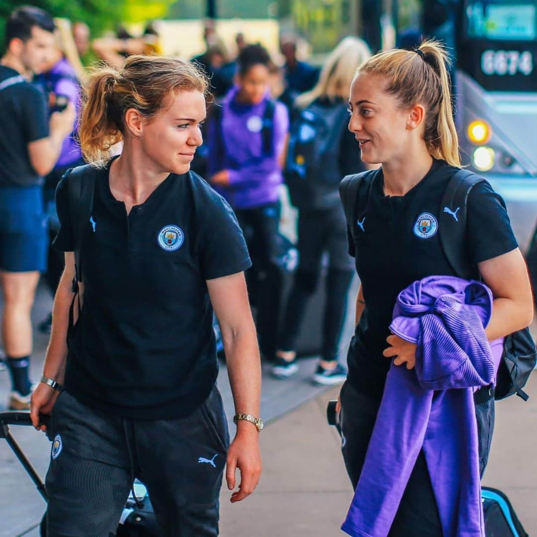
[[[462,160],[503,196],[528,252],[537,220],[537,0],[459,0],[454,23]]]

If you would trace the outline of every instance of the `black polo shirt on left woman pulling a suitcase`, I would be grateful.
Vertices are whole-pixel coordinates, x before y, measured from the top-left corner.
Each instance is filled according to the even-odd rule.
[[[227,202],[198,175],[170,174],[129,215],[98,173],[82,242],[84,300],[68,335],[65,385],[90,406],[125,417],[185,416],[217,375],[206,280],[250,267]],[[72,252],[68,175],[56,191],[54,246]]]

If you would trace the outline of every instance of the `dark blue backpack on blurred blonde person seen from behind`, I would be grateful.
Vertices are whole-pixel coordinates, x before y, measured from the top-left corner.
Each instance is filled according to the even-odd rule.
[[[291,121],[285,181],[299,209],[328,209],[337,203],[341,180],[339,147],[349,112],[347,104],[310,104]]]

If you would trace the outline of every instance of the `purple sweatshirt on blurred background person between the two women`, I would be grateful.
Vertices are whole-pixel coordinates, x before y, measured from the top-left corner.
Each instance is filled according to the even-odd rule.
[[[234,209],[251,209],[278,199],[283,182],[278,157],[284,149],[289,130],[289,116],[284,104],[275,102],[272,148],[263,154],[262,123],[269,95],[259,104],[236,101],[238,87],[232,88],[222,101],[222,124],[209,123],[208,175],[228,170],[229,187],[218,188]]]

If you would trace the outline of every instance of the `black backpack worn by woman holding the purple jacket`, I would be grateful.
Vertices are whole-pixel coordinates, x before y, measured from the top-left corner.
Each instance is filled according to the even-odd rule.
[[[369,181],[362,181],[366,174],[369,174]],[[373,172],[369,171],[347,175],[339,185],[339,195],[351,233],[354,230],[353,222],[358,199],[365,199],[371,192],[372,174]],[[449,180],[442,197],[441,207],[444,210],[438,217],[442,249],[454,273],[465,280],[480,279],[477,267],[470,263],[466,254],[465,233],[468,194],[477,183],[482,181],[485,181],[483,177],[471,171],[459,170],[456,172]],[[364,207],[366,206],[367,204],[364,205]],[[455,211],[456,218],[452,210]],[[529,328],[507,335],[496,378],[494,398],[496,400],[505,399],[516,393],[526,401],[528,395],[523,388],[535,367],[536,360],[537,349],[529,333]]]

